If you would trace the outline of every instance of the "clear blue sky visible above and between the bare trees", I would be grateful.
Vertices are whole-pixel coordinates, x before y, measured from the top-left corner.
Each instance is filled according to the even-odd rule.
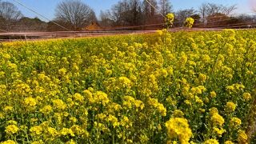
[[[15,3],[14,0],[2,0],[13,2],[18,9],[22,11],[26,17],[34,18],[37,15],[31,12],[30,10],[26,10],[26,8],[19,6],[18,3]],[[36,10],[39,14],[44,15],[46,18],[53,19],[54,18],[54,9],[62,0],[17,0],[25,4],[26,6]],[[98,15],[100,10],[108,10],[111,6],[117,3],[119,0],[82,0],[91,8],[93,8]],[[222,4],[224,6],[230,6],[236,4],[238,6],[238,10],[236,13],[244,14],[252,12],[253,5],[256,6],[256,0],[170,0],[172,5],[174,6],[174,10],[182,10],[194,7],[197,9],[204,2],[214,2],[218,4]],[[40,16],[38,16],[40,18]],[[41,18],[46,21],[46,19]]]

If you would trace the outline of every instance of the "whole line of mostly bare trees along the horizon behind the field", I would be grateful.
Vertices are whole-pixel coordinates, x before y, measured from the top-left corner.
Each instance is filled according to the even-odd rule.
[[[0,0],[0,32],[6,31],[59,31],[85,30],[97,23],[102,30],[149,30],[164,25],[164,16],[174,13],[174,27],[184,25],[186,18],[194,18],[194,27],[250,26],[253,16],[230,16],[236,6],[203,3],[198,9],[174,11],[170,0],[120,0],[110,10],[101,11],[97,18],[90,6],[80,0],[65,0],[55,8],[55,18],[43,22],[39,18],[26,18],[11,2]],[[65,27],[65,28],[64,28]]]

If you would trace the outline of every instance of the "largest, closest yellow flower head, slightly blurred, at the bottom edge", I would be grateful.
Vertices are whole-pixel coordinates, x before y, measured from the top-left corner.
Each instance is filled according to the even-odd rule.
[[[186,118],[170,118],[166,122],[169,138],[178,138],[181,143],[188,143],[192,137],[192,131]]]

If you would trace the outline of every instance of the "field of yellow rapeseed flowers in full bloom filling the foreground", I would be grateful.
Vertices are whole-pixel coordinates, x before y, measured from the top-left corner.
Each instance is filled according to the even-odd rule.
[[[249,142],[255,35],[158,30],[4,43],[0,143]]]

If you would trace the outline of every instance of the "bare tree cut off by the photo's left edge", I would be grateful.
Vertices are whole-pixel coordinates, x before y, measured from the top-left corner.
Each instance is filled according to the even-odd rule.
[[[0,28],[10,31],[22,18],[22,13],[13,3],[0,2],[0,18]]]

